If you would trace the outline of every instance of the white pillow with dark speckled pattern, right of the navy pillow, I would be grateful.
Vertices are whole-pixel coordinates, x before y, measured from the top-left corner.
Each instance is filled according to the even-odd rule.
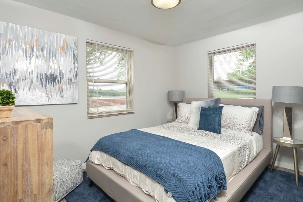
[[[221,128],[240,131],[252,135],[259,108],[225,105],[222,110]]]

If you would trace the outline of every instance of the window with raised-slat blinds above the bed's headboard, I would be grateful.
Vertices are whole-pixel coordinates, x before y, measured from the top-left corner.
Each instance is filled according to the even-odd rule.
[[[256,44],[208,52],[208,98],[256,98]]]

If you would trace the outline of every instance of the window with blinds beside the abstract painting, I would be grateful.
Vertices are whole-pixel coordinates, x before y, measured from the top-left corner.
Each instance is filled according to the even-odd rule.
[[[133,50],[86,41],[87,117],[134,113]]]

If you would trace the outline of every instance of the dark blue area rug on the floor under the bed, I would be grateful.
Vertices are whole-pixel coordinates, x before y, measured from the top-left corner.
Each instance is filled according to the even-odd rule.
[[[83,172],[83,182],[69,193],[65,199],[68,202],[112,202],[112,200],[97,185],[88,187],[89,179]],[[296,186],[295,174],[274,170],[269,173],[266,168],[260,177],[247,191],[241,202],[302,202],[303,176],[299,175],[299,186]]]

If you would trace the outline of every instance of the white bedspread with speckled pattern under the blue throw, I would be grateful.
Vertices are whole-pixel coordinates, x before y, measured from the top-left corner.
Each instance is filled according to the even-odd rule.
[[[188,127],[188,124],[177,122],[140,130],[214,151],[222,160],[227,181],[241,171],[263,149],[262,135],[255,132],[251,136],[239,131],[221,128],[221,134],[215,134],[197,130],[196,128]],[[131,184],[141,187],[146,194],[154,197],[156,201],[175,202],[173,197],[169,197],[164,192],[161,184],[108,154],[101,151],[92,151],[89,155],[89,161],[95,164],[102,164],[107,169],[113,169]]]

